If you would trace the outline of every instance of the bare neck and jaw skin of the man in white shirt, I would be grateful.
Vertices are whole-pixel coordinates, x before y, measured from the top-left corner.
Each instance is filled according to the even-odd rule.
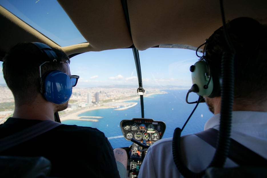
[[[214,114],[219,114],[221,112],[221,96],[209,98],[209,100],[214,106]],[[267,101],[258,104],[257,102],[253,102],[251,100],[247,100],[247,102],[234,100],[233,111],[267,112]]]

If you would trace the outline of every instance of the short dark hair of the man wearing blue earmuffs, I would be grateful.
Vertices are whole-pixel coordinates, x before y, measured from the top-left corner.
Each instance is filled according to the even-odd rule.
[[[60,62],[69,63],[69,57],[62,50],[52,48]],[[40,92],[39,66],[51,61],[33,43],[15,45],[3,58],[3,75],[14,95],[15,104],[30,104]],[[49,70],[64,71],[64,64],[48,62],[42,66],[42,76]]]

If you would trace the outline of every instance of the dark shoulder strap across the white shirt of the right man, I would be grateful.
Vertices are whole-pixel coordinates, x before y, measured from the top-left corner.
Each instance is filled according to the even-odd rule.
[[[202,140],[206,141],[212,147],[216,148],[218,130],[210,128],[203,132],[195,133]],[[267,165],[267,160],[255,153],[254,151],[248,149],[244,145],[241,145],[234,139],[230,139],[230,149],[228,153],[228,158],[242,166],[263,166]]]

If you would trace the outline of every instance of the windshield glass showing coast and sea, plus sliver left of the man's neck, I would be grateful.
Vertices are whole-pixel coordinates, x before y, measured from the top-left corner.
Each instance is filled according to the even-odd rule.
[[[195,104],[186,104],[190,89],[189,67],[198,57],[192,50],[149,48],[139,51],[144,92],[144,118],[163,121],[163,138],[172,137],[176,127],[182,128]],[[2,66],[1,62],[1,66]],[[80,78],[73,87],[69,107],[59,112],[63,124],[89,126],[104,132],[111,145],[131,145],[121,132],[120,122],[141,118],[138,78],[132,49],[87,52],[71,58],[72,75]],[[14,98],[0,70],[1,123],[14,111]],[[188,100],[198,96],[190,93]],[[200,103],[182,135],[200,132],[212,113]]]

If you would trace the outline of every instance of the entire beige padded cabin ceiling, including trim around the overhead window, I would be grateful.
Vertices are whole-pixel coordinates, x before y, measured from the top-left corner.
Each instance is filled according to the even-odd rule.
[[[18,42],[39,41],[68,55],[159,44],[199,46],[222,26],[219,1],[58,0],[87,43],[59,46],[0,6],[0,51]],[[252,17],[267,24],[267,1],[224,0],[226,21]],[[127,8],[124,8],[127,7]]]

